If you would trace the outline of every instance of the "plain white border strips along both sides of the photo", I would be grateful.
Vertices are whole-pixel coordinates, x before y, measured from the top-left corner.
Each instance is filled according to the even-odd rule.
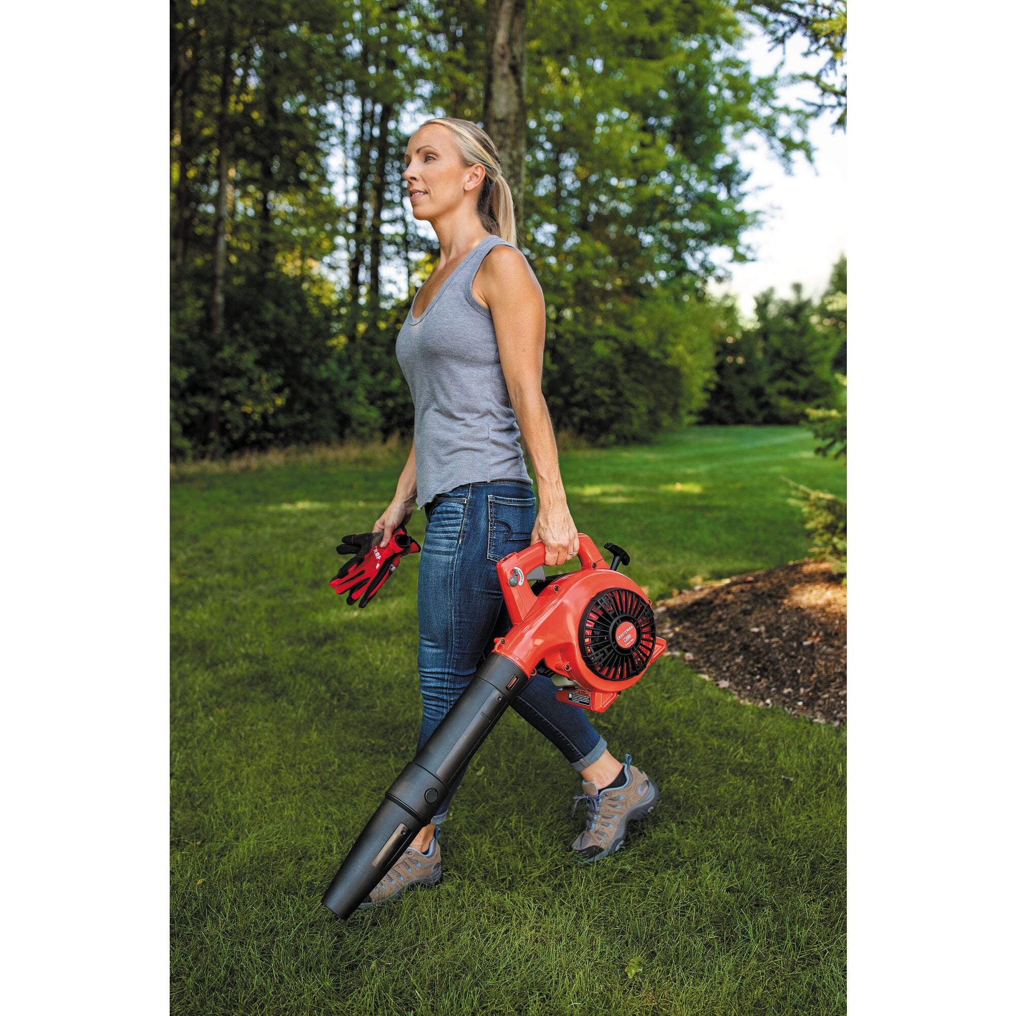
[[[0,62],[3,992],[136,1016],[169,1006],[168,30],[31,10]],[[850,14],[850,1004],[999,1011],[1013,6]]]

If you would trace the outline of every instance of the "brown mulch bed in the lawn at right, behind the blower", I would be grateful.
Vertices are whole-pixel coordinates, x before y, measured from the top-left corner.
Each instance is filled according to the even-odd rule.
[[[821,561],[696,586],[656,604],[668,653],[744,702],[846,722],[846,587]]]

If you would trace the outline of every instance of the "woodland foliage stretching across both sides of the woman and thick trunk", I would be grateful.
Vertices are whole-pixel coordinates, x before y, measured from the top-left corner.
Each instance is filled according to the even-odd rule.
[[[430,116],[481,119],[485,5],[173,0],[171,25],[174,455],[410,433],[394,340],[438,252],[401,154]],[[614,443],[692,420],[717,342],[742,340],[706,292],[719,252],[749,256],[740,142],[810,157],[809,112],[752,72],[745,35],[720,0],[529,6],[519,245],[559,428]],[[815,351],[784,310],[765,341],[790,377]]]

